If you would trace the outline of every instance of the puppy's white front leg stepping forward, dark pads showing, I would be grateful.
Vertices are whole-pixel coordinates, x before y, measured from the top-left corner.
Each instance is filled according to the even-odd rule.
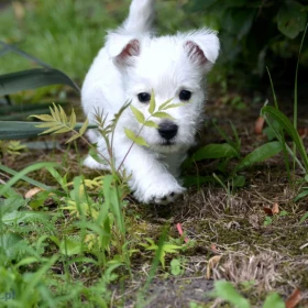
[[[125,147],[123,144],[121,145],[122,150]],[[124,153],[120,156],[117,157],[118,164],[121,163],[121,158],[123,160]],[[134,144],[125,157],[123,166],[128,174],[132,175],[129,185],[141,202],[166,205],[173,202],[185,191],[185,188],[160,162],[157,153],[147,148]]]

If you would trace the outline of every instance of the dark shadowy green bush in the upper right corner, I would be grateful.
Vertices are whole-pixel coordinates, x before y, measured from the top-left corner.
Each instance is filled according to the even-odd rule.
[[[206,15],[205,23],[219,31],[224,78],[232,76],[229,80],[246,86],[250,77],[252,81],[266,77],[268,66],[274,76],[294,79],[307,23],[307,0],[190,0],[185,9],[187,14]],[[306,73],[307,43],[300,57]]]

